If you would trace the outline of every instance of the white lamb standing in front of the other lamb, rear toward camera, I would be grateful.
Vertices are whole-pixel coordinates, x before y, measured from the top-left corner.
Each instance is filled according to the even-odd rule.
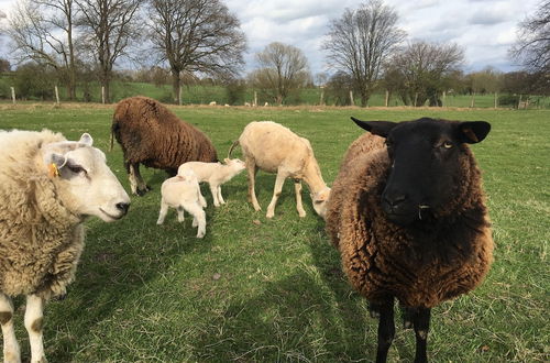
[[[197,238],[206,233],[205,198],[200,195],[197,175],[191,169],[166,179],[161,187],[161,211],[156,224],[162,224],[168,212],[168,207],[176,208],[178,222],[184,221],[184,210],[193,216],[193,227],[198,226]]]

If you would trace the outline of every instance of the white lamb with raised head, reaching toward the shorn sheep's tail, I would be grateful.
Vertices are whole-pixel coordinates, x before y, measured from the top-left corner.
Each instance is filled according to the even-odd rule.
[[[213,205],[215,207],[219,207],[226,204],[221,195],[221,185],[229,182],[246,167],[244,162],[239,158],[226,158],[223,162],[226,164],[188,162],[179,166],[177,174],[182,175],[187,169],[195,172],[199,183],[207,182],[209,184]],[[202,195],[200,197],[202,198]]]

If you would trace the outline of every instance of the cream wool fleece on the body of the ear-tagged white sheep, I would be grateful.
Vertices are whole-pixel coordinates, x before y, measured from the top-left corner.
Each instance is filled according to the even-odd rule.
[[[0,154],[0,290],[9,296],[66,293],[84,249],[81,219],[67,210],[47,176],[40,146],[51,131],[11,132]]]

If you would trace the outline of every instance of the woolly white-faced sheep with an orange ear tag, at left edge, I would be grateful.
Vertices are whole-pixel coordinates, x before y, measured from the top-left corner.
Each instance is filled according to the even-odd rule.
[[[44,130],[0,131],[0,323],[4,362],[20,362],[11,297],[26,295],[31,362],[46,362],[43,306],[63,296],[84,248],[82,221],[122,218],[130,198],[91,146]]]

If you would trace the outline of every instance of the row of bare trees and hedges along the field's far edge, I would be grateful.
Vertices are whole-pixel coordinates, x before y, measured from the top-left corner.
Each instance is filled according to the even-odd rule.
[[[22,0],[2,33],[18,63],[20,94],[36,95],[32,88],[43,79],[65,87],[69,100],[76,100],[79,87],[87,100],[90,85],[99,82],[110,102],[112,80],[131,74],[170,84],[175,103],[182,103],[182,85],[210,79],[227,87],[233,102],[248,87],[282,105],[293,92],[320,86],[319,103],[350,105],[356,95],[369,106],[374,92],[385,91],[386,99],[397,97],[404,105],[441,106],[453,94],[473,100],[480,94],[508,94],[501,101],[510,103],[519,95],[549,95],[549,22],[546,0],[519,24],[509,50],[524,69],[507,74],[491,67],[464,74],[459,45],[407,41],[397,12],[383,0],[345,9],[330,21],[320,50],[330,75],[312,76],[301,50],[274,42],[255,54],[256,67],[243,76],[246,37],[221,0]],[[9,70],[10,62],[0,58],[0,73]]]

